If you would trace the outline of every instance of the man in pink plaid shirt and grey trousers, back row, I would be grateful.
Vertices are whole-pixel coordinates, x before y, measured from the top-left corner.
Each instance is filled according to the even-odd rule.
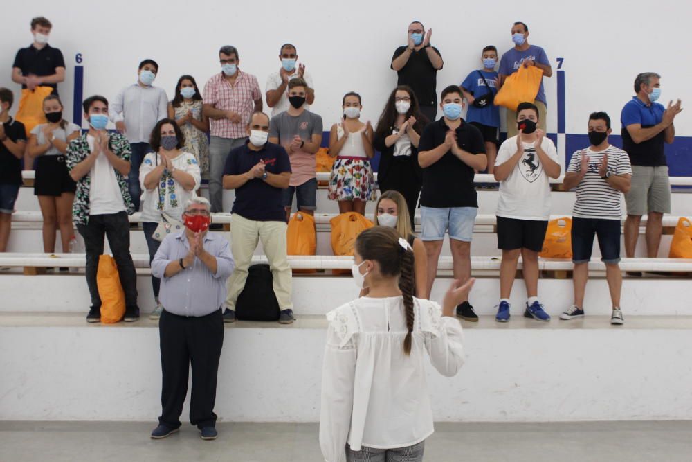
[[[245,127],[255,111],[262,111],[262,92],[257,77],[239,69],[240,57],[235,46],[219,50],[221,73],[210,78],[203,91],[203,112],[210,118],[209,198],[212,212],[224,211],[224,175],[226,157],[247,140]],[[254,103],[254,106],[253,106]]]

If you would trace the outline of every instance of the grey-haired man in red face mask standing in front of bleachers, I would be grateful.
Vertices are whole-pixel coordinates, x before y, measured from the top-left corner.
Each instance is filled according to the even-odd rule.
[[[158,335],[161,345],[161,407],[152,438],[178,431],[183,402],[188,393],[188,368],[192,364],[190,423],[201,438],[217,437],[214,404],[226,299],[226,278],[233,272],[228,241],[209,233],[210,204],[193,197],[183,212],[185,229],[166,236],[152,261],[152,274],[161,278],[163,305]]]

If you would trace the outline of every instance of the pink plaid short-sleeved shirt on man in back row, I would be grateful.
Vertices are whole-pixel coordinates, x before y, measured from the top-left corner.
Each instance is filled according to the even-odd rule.
[[[204,85],[203,103],[212,105],[223,111],[233,111],[240,114],[242,121],[233,123],[227,118],[210,119],[211,136],[221,138],[245,138],[245,127],[253,114],[255,100],[262,98],[260,84],[255,75],[246,74],[238,69],[235,83],[230,85],[224,78],[224,73],[218,73]]]

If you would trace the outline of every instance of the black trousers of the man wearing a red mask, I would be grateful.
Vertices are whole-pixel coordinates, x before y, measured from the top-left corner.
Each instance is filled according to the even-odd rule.
[[[190,423],[214,427],[216,384],[221,347],[224,345],[224,318],[221,310],[202,317],[183,317],[166,310],[158,321],[161,342],[161,407],[158,423],[180,427],[183,402],[188,394],[188,369],[192,364]]]

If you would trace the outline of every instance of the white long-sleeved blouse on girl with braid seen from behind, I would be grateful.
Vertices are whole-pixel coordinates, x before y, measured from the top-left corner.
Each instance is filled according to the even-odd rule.
[[[410,356],[403,297],[361,297],[327,314],[320,447],[328,462],[346,460],[346,443],[392,449],[432,434],[424,351],[439,373],[455,375],[464,364],[462,327],[432,301],[414,299],[414,312]]]

